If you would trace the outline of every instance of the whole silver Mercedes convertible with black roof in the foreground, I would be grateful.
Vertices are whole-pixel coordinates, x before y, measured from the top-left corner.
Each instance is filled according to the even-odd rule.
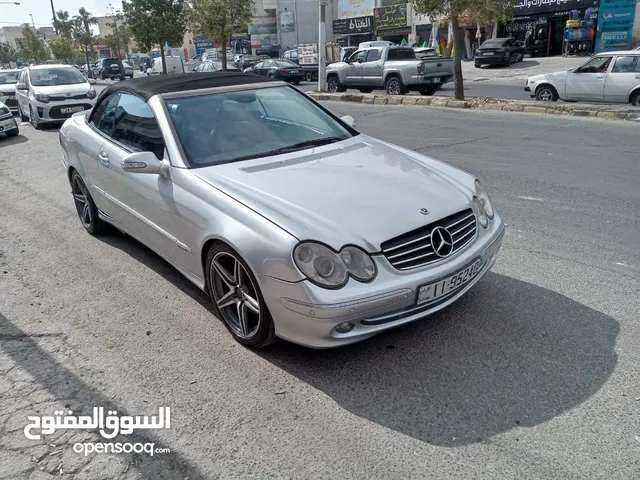
[[[244,345],[328,348],[455,302],[504,234],[473,175],[354,123],[284,82],[177,74],[110,86],[60,144],[87,232],[147,245]]]

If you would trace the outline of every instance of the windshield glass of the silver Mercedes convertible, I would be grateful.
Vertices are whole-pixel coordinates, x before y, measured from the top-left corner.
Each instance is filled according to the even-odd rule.
[[[167,99],[192,168],[295,152],[353,136],[288,86]]]

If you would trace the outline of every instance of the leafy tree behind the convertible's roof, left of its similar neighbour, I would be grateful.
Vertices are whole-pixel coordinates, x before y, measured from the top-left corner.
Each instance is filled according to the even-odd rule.
[[[150,51],[160,46],[162,72],[167,73],[164,46],[182,44],[186,29],[184,0],[123,0],[122,10],[138,45]]]

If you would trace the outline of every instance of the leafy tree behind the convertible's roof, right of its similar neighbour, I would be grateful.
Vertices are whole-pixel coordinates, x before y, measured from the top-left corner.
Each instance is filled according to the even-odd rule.
[[[191,0],[185,9],[189,28],[222,47],[222,70],[227,69],[227,41],[234,32],[247,31],[253,18],[253,0]]]

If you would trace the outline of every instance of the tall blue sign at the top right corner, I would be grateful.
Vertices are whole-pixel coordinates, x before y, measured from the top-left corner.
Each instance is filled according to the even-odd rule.
[[[596,53],[629,50],[638,0],[600,0]]]

